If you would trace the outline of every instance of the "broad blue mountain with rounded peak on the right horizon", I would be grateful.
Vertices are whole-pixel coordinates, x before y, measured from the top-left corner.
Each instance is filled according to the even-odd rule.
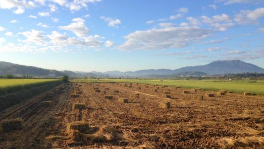
[[[207,74],[237,74],[237,73],[264,73],[264,69],[256,65],[240,60],[214,61],[203,66],[184,67],[174,70],[174,73],[181,72],[204,72]]]

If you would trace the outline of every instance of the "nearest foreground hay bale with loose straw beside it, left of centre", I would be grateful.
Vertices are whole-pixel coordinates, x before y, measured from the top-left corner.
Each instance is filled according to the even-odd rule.
[[[89,123],[85,121],[77,121],[77,122],[72,122],[67,124],[67,130],[71,131],[79,131],[81,133],[86,133],[89,131]]]

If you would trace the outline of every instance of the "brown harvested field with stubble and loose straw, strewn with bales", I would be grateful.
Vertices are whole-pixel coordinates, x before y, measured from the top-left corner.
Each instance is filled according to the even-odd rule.
[[[71,96],[76,88],[79,97]],[[207,92],[214,97],[206,97]],[[164,106],[167,102],[170,108]],[[75,103],[86,108],[74,109]],[[69,83],[0,112],[0,124],[13,118],[22,119],[22,129],[0,128],[0,149],[264,149],[264,96],[136,83]],[[76,122],[89,127],[71,126]]]

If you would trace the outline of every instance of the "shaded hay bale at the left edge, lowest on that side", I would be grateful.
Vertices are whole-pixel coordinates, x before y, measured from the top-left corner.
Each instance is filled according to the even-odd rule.
[[[22,129],[22,119],[20,118],[2,120],[1,123],[1,127],[5,132]]]

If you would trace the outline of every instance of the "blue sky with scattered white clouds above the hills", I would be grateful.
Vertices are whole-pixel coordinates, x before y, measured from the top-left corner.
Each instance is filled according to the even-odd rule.
[[[0,61],[59,71],[264,68],[264,0],[0,0]]]

